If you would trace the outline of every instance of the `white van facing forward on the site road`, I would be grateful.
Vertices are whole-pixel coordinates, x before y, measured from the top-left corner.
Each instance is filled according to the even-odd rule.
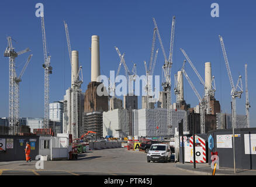
[[[147,162],[171,161],[171,149],[167,144],[152,144],[147,153]]]

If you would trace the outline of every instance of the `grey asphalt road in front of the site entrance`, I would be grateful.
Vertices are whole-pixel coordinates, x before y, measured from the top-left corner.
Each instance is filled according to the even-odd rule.
[[[36,162],[0,162],[0,175],[191,175],[175,168],[174,161],[148,163],[146,153],[126,148],[88,151],[74,161],[44,161],[44,169],[36,169]]]

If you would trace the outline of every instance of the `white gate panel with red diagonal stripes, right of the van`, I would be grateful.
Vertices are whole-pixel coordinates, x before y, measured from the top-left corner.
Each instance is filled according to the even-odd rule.
[[[196,163],[206,163],[206,141],[203,138],[195,135],[195,144]],[[193,163],[193,136],[189,138],[189,147],[192,147],[190,162]]]

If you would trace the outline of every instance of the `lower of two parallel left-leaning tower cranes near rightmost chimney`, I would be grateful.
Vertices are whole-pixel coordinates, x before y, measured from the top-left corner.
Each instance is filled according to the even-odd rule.
[[[206,108],[206,102],[205,102],[205,99],[202,98],[199,95],[199,93],[196,90],[195,86],[193,85],[191,79],[188,77],[188,74],[186,74],[186,71],[184,70],[185,63],[186,63],[186,61],[184,60],[184,63],[183,63],[182,68],[181,68],[181,71],[182,71],[182,74],[184,74],[184,76],[187,79],[189,85],[193,89],[193,92],[195,93],[196,97],[199,100],[199,103],[200,103],[200,106],[199,106],[200,107],[200,131],[201,131],[202,134],[205,134],[205,108]]]

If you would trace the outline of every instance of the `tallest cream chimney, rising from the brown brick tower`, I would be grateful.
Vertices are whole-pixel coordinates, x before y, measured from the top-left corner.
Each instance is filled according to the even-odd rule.
[[[91,82],[99,82],[99,75],[101,75],[99,65],[99,36],[93,35],[91,46]]]

